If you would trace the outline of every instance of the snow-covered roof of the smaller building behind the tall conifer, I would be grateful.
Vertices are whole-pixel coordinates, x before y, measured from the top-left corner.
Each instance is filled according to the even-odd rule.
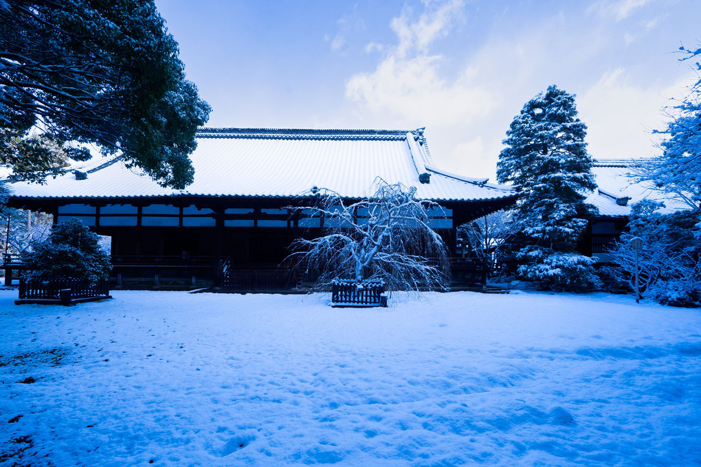
[[[596,159],[592,173],[596,176],[598,189],[587,202],[599,208],[600,216],[625,217],[630,214],[630,207],[644,199],[658,200],[665,203],[660,211],[669,213],[688,209],[688,205],[674,199],[672,195],[655,190],[652,183],[634,180],[634,160]]]

